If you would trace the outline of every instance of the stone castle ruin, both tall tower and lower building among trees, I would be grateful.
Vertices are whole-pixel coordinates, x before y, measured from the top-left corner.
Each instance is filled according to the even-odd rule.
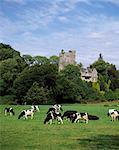
[[[59,71],[63,70],[65,66],[72,64],[76,65],[76,51],[69,50],[68,52],[61,51],[59,54]],[[97,82],[98,73],[95,68],[81,68],[81,79],[87,82]]]

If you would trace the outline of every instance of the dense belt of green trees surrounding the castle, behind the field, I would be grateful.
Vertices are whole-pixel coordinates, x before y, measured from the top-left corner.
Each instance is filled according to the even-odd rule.
[[[23,55],[0,44],[0,103],[86,103],[119,99],[119,70],[100,58],[91,67],[98,71],[96,83],[80,78],[83,66],[67,65],[58,71],[58,56]]]

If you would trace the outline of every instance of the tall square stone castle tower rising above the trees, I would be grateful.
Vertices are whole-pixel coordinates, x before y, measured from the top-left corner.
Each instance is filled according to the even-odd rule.
[[[68,52],[61,51],[59,54],[59,71],[63,70],[69,64],[75,64],[76,51],[69,50]]]

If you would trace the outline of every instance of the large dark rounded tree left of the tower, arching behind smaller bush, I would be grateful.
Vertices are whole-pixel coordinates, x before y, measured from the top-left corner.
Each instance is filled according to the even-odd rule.
[[[31,67],[26,67],[14,80],[13,89],[15,95],[18,99],[22,99],[34,82],[54,94],[53,88],[55,88],[57,72],[58,67],[54,64],[34,64]]]

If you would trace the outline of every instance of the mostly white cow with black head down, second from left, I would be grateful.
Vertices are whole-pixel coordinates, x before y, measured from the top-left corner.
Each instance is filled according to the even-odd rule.
[[[23,110],[18,116],[18,119],[20,119],[21,117],[23,117],[24,119],[28,119],[28,116],[30,116],[31,119],[33,119],[33,115],[34,115],[34,109]]]

